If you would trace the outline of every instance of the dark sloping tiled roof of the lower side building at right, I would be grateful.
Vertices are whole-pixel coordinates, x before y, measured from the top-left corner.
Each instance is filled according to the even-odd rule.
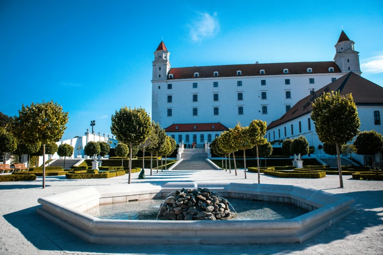
[[[341,95],[352,93],[355,104],[358,105],[383,105],[383,87],[370,82],[359,75],[349,72],[346,75],[340,77],[335,82],[326,85],[317,91],[314,95],[308,95],[307,97],[296,103],[291,109],[286,112],[280,119],[270,123],[268,129],[279,126],[288,121],[291,121],[297,117],[310,113],[313,110],[311,104],[311,98],[315,98],[328,88],[327,92],[340,91]],[[307,102],[309,103],[308,105]]]

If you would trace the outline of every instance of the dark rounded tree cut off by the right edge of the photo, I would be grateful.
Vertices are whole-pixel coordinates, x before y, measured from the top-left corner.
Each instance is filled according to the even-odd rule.
[[[359,155],[374,155],[382,151],[383,137],[375,130],[360,132],[354,141]]]

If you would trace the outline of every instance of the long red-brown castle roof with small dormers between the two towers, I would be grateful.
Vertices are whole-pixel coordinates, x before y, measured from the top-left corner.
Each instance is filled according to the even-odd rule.
[[[340,73],[340,69],[334,61],[324,62],[295,62],[295,63],[269,63],[269,64],[230,64],[230,65],[210,65],[210,66],[192,66],[176,67],[169,71],[173,74],[173,79],[194,79],[194,73],[198,72],[198,78],[216,77],[214,72],[218,71],[218,77],[232,76],[265,76],[265,75],[283,75],[283,69],[289,69],[288,74],[308,73],[307,68],[313,68],[315,73],[329,73],[328,68],[333,67],[335,73]],[[261,74],[260,70],[265,70]],[[237,75],[237,71],[242,71],[242,75]],[[198,79],[197,78],[197,79]]]

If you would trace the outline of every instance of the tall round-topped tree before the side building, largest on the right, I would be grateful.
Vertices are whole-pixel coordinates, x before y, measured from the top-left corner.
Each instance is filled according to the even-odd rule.
[[[340,149],[342,144],[351,141],[358,133],[360,119],[357,106],[351,94],[340,92],[324,93],[313,103],[311,118],[320,141],[335,144],[338,155],[339,184],[343,188]]]

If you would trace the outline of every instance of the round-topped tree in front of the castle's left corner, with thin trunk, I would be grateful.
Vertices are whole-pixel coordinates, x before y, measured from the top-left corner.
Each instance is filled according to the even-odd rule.
[[[117,140],[129,145],[129,177],[132,173],[132,149],[145,141],[150,132],[151,121],[149,114],[143,108],[122,107],[112,115],[111,131]]]

